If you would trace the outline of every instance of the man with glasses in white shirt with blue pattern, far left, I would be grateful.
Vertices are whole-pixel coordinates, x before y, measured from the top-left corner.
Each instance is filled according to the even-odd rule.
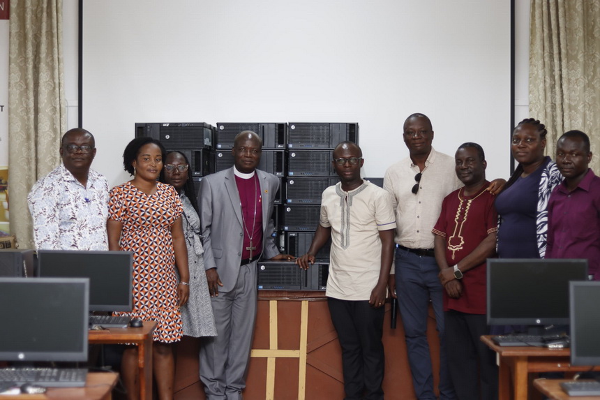
[[[82,128],[63,135],[62,165],[40,179],[27,196],[36,249],[108,250],[108,183],[90,170],[93,135]]]

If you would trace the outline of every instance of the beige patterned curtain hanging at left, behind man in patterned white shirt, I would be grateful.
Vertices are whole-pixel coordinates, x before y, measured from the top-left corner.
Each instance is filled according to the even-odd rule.
[[[10,1],[9,30],[10,230],[21,249],[33,249],[27,194],[59,165],[66,131],[62,0]]]

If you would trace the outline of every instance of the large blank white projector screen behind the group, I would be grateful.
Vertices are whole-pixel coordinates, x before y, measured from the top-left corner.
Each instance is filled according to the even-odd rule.
[[[110,186],[136,122],[358,122],[363,176],[383,177],[414,112],[437,151],[477,142],[488,179],[509,176],[509,1],[80,4],[82,126]]]

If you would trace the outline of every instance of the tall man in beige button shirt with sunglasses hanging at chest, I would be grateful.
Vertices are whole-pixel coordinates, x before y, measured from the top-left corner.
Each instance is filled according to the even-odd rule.
[[[436,399],[427,341],[429,302],[435,312],[440,338],[440,400],[456,399],[449,377],[444,346],[444,309],[440,269],[433,251],[431,232],[440,216],[444,198],[462,186],[454,172],[454,157],[431,146],[433,128],[424,114],[412,114],[404,122],[403,137],[409,156],[391,165],[384,188],[392,195],[396,211],[396,268],[390,290],[398,292],[408,361],[417,399]]]

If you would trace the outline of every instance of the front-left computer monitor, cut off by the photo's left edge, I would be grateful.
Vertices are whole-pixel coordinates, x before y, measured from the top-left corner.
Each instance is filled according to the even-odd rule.
[[[1,361],[87,361],[87,279],[0,278]]]

